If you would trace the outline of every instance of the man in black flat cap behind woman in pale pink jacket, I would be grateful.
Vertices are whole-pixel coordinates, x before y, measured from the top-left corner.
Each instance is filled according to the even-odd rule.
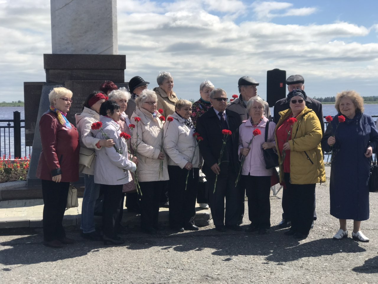
[[[259,83],[257,81],[249,76],[243,76],[238,81],[238,87],[239,87],[239,98],[236,100],[233,100],[227,104],[227,109],[230,111],[237,112],[240,115],[240,119],[247,120],[249,118],[249,113],[247,113],[247,102],[250,98],[255,97],[257,95],[257,86],[259,86]],[[264,101],[265,103],[265,109],[264,109],[264,116],[271,120],[272,116],[270,114],[269,104]],[[245,189],[242,189],[240,187],[240,214],[239,214],[239,222],[238,224],[241,224],[243,222],[243,216],[244,216],[244,200],[245,200]]]

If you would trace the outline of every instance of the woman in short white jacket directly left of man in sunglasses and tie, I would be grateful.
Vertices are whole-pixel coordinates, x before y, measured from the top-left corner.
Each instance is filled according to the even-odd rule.
[[[167,117],[164,124],[164,151],[168,155],[169,173],[169,225],[180,232],[198,230],[194,217],[200,153],[196,147],[197,133],[191,114],[192,103],[178,100],[175,112]]]

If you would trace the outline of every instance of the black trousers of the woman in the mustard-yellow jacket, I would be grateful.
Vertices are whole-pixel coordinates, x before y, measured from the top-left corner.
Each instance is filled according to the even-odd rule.
[[[314,220],[316,184],[291,184],[290,173],[285,173],[288,214],[291,216],[291,229],[308,235]]]

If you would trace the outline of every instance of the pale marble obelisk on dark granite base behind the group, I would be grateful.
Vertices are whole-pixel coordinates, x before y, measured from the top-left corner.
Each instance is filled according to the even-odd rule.
[[[25,144],[33,142],[28,186],[39,185],[39,120],[55,86],[73,92],[67,119],[82,111],[87,95],[106,80],[125,86],[125,55],[118,55],[116,0],[51,0],[52,54],[43,55],[46,82],[24,82]],[[38,109],[38,112],[36,111]]]

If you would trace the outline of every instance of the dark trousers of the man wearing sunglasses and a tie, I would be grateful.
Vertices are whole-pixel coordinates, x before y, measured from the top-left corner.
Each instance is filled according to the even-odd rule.
[[[211,204],[211,215],[215,226],[236,225],[239,221],[240,214],[240,186],[235,187],[237,174],[232,167],[225,170],[224,174],[218,175],[217,187],[214,192],[215,175],[208,175],[206,183],[209,191],[209,200]],[[226,209],[225,209],[226,198]]]

